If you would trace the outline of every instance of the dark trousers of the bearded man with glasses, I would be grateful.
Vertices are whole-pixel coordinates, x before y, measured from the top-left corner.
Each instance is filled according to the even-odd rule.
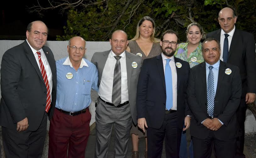
[[[182,129],[177,128],[176,113],[165,114],[161,128],[147,128],[148,158],[161,158],[164,139],[166,158],[179,157]]]

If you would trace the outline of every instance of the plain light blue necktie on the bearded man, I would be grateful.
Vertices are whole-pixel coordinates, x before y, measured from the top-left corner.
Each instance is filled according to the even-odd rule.
[[[172,76],[171,76],[171,67],[169,65],[169,62],[171,59],[165,59],[166,65],[165,65],[165,87],[166,87],[166,109],[170,110],[172,108],[173,104],[173,98],[172,98]]]

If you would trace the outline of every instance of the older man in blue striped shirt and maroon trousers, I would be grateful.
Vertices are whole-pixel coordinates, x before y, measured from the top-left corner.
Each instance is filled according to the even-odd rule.
[[[67,46],[69,57],[56,61],[57,101],[49,129],[49,158],[85,156],[91,89],[99,90],[97,68],[83,58],[85,44],[82,37],[71,38]]]

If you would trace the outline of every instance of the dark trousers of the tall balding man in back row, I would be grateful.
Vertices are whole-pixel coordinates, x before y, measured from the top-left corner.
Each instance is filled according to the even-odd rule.
[[[243,147],[244,147],[244,122],[245,122],[245,115],[246,115],[246,103],[245,98],[241,98],[240,105],[237,109],[237,120],[238,120],[238,129],[239,129],[239,137],[237,138],[237,150],[236,156],[237,158],[245,158],[243,154]]]

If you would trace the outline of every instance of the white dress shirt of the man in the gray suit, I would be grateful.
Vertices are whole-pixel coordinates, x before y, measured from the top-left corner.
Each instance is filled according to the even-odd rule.
[[[113,89],[113,79],[114,79],[114,68],[116,63],[116,56],[114,52],[111,50],[107,61],[105,63],[100,87],[99,87],[99,96],[107,102],[112,103],[112,89]],[[127,70],[126,70],[126,59],[125,59],[125,51],[120,55],[120,65],[121,65],[121,104],[125,101],[129,101],[128,95],[128,85],[127,85]]]

